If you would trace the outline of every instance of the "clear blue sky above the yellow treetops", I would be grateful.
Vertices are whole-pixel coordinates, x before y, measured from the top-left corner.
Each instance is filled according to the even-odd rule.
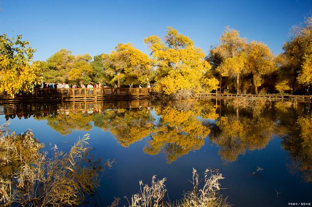
[[[311,16],[312,0],[0,0],[0,33],[19,34],[46,60],[61,48],[92,56],[143,38],[163,37],[172,26],[206,54],[225,26],[281,52],[290,28]]]

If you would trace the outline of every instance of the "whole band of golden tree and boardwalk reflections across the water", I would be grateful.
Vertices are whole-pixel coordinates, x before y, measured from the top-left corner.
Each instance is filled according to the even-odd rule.
[[[151,104],[147,100],[101,103],[3,104],[6,119],[46,120],[62,135],[95,127],[109,131],[123,147],[146,138],[143,152],[164,153],[167,163],[214,143],[224,163],[280,137],[291,171],[312,181],[311,104],[206,100]],[[155,116],[156,115],[156,116]],[[206,142],[207,142],[206,141]]]

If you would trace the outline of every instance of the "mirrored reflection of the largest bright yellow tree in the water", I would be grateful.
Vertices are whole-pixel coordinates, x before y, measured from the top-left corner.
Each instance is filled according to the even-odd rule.
[[[157,106],[155,111],[161,118],[154,127],[152,139],[143,149],[144,153],[157,155],[163,150],[167,162],[171,163],[190,151],[200,149],[210,129],[198,117],[215,119],[217,115],[211,104],[197,104],[186,110],[175,106]]]

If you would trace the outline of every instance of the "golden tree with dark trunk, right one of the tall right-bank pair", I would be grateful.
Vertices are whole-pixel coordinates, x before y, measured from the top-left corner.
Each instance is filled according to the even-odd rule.
[[[269,74],[276,69],[273,53],[262,42],[252,41],[248,44],[246,69],[253,76],[254,93],[258,94],[259,79],[262,75]]]

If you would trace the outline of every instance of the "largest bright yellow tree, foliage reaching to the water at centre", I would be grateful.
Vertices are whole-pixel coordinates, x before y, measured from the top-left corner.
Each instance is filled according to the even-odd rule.
[[[189,37],[168,27],[165,42],[152,35],[144,43],[149,46],[156,67],[156,90],[169,95],[178,90],[200,89],[201,79],[210,65],[204,60],[204,52]]]

